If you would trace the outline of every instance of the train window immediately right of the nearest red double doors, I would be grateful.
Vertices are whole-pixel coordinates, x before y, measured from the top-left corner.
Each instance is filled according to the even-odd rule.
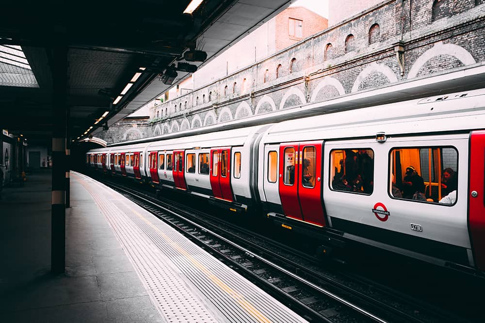
[[[330,188],[335,191],[372,194],[374,152],[370,148],[334,149],[330,152]]]

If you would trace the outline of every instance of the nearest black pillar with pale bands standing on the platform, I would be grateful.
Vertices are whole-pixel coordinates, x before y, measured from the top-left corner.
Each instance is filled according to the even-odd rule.
[[[65,129],[67,46],[52,49],[52,240],[51,272],[65,271]]]

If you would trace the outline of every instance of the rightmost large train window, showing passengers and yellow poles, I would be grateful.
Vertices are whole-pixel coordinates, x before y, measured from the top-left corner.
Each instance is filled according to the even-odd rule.
[[[453,147],[394,148],[389,154],[389,196],[453,205],[458,152]]]

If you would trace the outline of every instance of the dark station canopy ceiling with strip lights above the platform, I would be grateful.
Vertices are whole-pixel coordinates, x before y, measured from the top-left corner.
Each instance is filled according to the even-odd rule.
[[[54,46],[65,44],[71,139],[111,125],[172,85],[161,75],[185,52],[207,53],[200,67],[288,7],[288,0],[29,1],[2,4],[0,19],[0,128],[31,140],[49,140]],[[18,47],[21,46],[21,47]],[[23,54],[16,49],[21,48]],[[3,53],[3,56],[2,56]],[[24,57],[22,57],[24,56]],[[27,60],[30,67],[23,66]],[[140,70],[143,67],[145,70]],[[133,86],[112,105],[136,73]],[[32,74],[34,79],[32,79]],[[178,71],[173,84],[188,75]],[[94,124],[103,114],[108,115]]]

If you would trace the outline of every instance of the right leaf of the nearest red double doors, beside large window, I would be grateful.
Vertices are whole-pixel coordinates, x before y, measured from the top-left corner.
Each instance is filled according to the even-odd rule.
[[[322,145],[321,141],[300,142],[298,198],[303,220],[325,225],[322,204]]]

